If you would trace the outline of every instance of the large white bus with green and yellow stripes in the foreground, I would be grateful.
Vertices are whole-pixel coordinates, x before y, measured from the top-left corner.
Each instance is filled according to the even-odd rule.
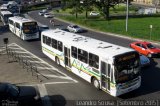
[[[141,85],[139,54],[130,48],[60,29],[43,31],[41,39],[45,55],[112,96]]]

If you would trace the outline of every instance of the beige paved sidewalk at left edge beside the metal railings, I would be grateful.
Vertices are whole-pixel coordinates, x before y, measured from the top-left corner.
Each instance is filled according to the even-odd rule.
[[[6,52],[0,52],[0,82],[18,85],[34,85],[39,80],[12,58],[8,59]]]

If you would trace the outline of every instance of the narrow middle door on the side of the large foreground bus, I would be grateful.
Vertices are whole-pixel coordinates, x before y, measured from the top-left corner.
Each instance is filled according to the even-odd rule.
[[[70,63],[70,49],[67,47],[64,47],[64,63],[65,67],[69,68],[71,67]]]

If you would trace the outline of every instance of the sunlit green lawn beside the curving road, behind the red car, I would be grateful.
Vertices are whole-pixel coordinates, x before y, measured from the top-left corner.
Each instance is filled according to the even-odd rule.
[[[122,34],[124,36],[130,36],[134,38],[160,41],[160,17],[129,18],[128,32],[125,31],[125,19],[106,21],[104,19],[85,19],[84,16],[79,16],[78,19],[76,19],[73,15],[60,16],[59,18],[98,31]],[[153,26],[152,30],[150,29],[150,25]]]

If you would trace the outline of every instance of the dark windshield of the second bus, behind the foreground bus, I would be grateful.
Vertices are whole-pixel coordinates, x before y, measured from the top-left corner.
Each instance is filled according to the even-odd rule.
[[[36,22],[25,22],[23,23],[23,33],[34,34],[38,32],[38,25]]]

